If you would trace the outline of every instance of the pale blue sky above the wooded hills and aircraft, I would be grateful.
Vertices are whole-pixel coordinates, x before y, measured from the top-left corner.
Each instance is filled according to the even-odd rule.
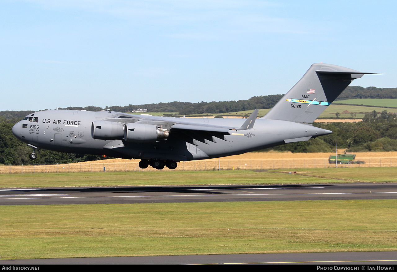
[[[0,111],[284,94],[312,63],[397,87],[395,1],[2,0]]]

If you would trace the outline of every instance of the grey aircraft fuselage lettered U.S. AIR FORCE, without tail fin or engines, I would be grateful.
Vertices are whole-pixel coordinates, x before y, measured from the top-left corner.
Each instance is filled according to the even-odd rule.
[[[29,118],[31,120],[29,120]],[[209,119],[151,117],[131,115],[115,111],[39,111],[18,122],[13,134],[31,146],[53,151],[106,155],[128,159],[160,159],[190,161],[241,154],[272,147],[300,139],[308,140],[331,133],[310,124],[289,121],[256,119],[254,129],[229,130],[221,138],[200,136],[200,131],[191,140],[179,130],[170,129],[170,136],[153,142],[127,142],[124,139],[100,140],[92,137],[93,121],[127,117],[134,120],[150,120],[172,125],[180,121],[203,125],[240,127],[246,119]],[[26,117],[25,117],[26,118]],[[123,118],[121,118],[123,119]],[[124,119],[123,119],[124,120]],[[158,125],[161,126],[161,125]],[[197,138],[197,139],[195,139]],[[190,138],[189,138],[190,139]]]

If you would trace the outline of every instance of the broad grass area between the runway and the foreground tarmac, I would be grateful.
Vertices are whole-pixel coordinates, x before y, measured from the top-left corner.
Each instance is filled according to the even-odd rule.
[[[2,206],[1,258],[397,250],[397,200]]]

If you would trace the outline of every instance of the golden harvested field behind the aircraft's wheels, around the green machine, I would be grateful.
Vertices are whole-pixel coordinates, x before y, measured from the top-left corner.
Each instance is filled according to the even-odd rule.
[[[343,149],[340,149],[338,153],[343,153],[343,151]],[[65,165],[4,165],[0,166],[0,173],[267,170],[335,167],[335,164],[328,163],[330,155],[335,154],[276,151],[251,152],[220,159],[181,161],[178,163],[177,169],[174,170],[166,167],[163,170],[157,170],[152,167],[140,169],[138,166],[139,160],[106,159]],[[397,152],[358,152],[356,153],[356,161],[365,161],[365,164],[339,164],[338,167],[397,167]]]

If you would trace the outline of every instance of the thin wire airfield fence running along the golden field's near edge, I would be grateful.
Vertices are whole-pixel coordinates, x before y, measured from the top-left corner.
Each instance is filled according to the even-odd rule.
[[[397,157],[360,157],[365,164],[338,164],[338,167],[397,167]],[[206,170],[271,170],[299,168],[335,168],[328,159],[208,159],[181,161],[176,169],[152,167],[141,169],[139,160],[103,160],[56,165],[1,165],[0,174],[12,173],[66,173],[66,172],[135,172],[135,171],[206,171]]]

